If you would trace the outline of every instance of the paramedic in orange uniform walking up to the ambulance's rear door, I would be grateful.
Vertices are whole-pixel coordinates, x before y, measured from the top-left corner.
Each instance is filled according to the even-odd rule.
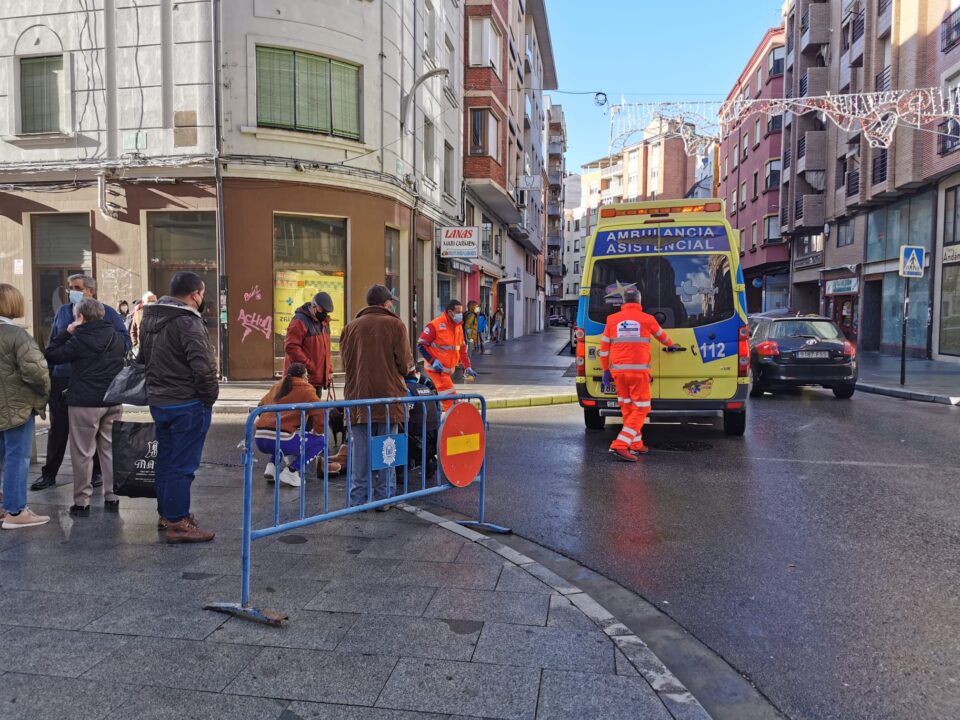
[[[643,423],[650,413],[650,338],[666,346],[668,352],[682,350],[640,306],[636,286],[623,290],[620,311],[607,318],[600,338],[600,366],[603,384],[616,384],[617,400],[623,413],[623,429],[610,445],[610,452],[627,462],[636,462],[645,454]]]

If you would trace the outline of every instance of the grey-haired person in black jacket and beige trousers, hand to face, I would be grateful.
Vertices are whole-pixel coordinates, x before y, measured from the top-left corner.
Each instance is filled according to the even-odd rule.
[[[93,298],[78,302],[73,312],[74,321],[53,338],[46,357],[52,366],[71,365],[66,390],[73,467],[70,514],[87,517],[93,495],[95,453],[100,456],[103,473],[104,509],[120,509],[113,492],[113,423],[123,415],[123,406],[105,402],[103,396],[123,369],[127,347],[124,336],[111,320],[105,319],[104,306]]]

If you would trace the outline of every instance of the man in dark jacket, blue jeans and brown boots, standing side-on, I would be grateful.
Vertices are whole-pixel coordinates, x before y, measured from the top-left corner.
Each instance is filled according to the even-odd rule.
[[[196,273],[177,273],[170,295],[144,307],[140,324],[140,357],[157,433],[157,526],[167,531],[168,543],[213,540],[190,513],[190,485],[220,391],[203,324],[205,290]]]

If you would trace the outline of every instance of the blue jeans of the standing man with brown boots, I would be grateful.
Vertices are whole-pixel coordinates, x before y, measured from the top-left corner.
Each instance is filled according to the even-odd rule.
[[[156,424],[157,512],[169,522],[190,514],[190,485],[200,467],[212,408],[199,400],[185,405],[151,405]]]

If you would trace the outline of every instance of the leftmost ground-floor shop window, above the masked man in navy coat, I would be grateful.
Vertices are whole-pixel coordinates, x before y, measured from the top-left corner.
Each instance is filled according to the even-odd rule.
[[[93,275],[90,215],[33,215],[31,240],[33,327],[37,342],[43,346],[50,340],[53,316],[67,302],[67,278],[78,273]]]

